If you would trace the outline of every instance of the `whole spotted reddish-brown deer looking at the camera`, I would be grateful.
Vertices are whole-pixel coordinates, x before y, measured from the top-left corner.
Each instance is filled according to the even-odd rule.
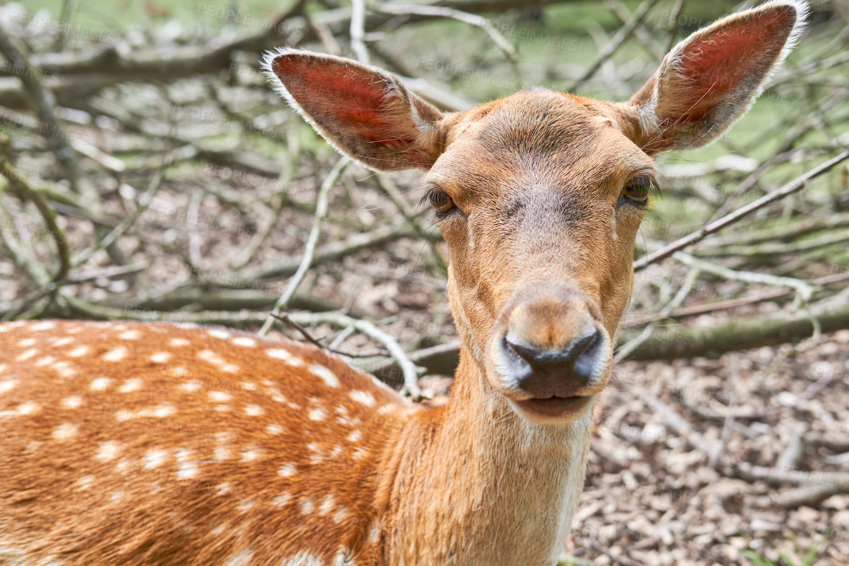
[[[0,325],[0,564],[557,563],[654,158],[742,116],[806,14],[773,0],[717,20],[618,103],[530,88],[443,112],[380,68],[268,53],[340,153],[424,171],[461,340],[450,402],[244,331]]]

